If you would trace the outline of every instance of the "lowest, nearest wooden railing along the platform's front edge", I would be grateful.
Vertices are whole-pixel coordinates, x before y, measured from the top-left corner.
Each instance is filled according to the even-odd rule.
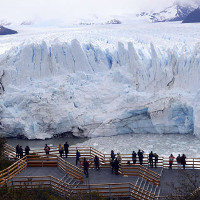
[[[25,180],[23,180],[25,179]],[[23,181],[22,181],[23,180]],[[22,185],[21,183],[25,183]],[[42,184],[41,184],[42,183]],[[61,181],[53,176],[19,176],[15,177],[12,181],[7,182],[8,186],[14,188],[31,189],[37,186],[48,186],[52,190],[58,192],[62,196],[69,196],[70,192],[76,193],[77,191],[98,191],[103,196],[131,196],[136,199],[153,199],[155,197],[151,192],[141,189],[132,183],[112,183],[112,184],[91,184],[91,185],[81,185],[81,188],[70,188],[70,184]],[[84,188],[86,187],[86,188]],[[41,187],[44,188],[44,187]]]

